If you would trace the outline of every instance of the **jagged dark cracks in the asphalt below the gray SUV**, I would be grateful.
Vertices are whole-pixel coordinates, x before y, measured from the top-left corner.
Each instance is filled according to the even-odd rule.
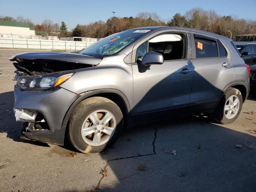
[[[136,156],[129,156],[129,157],[121,157],[121,158],[115,158],[115,159],[110,159],[107,161],[106,165],[104,166],[104,168],[102,169],[102,171],[104,172],[107,168],[107,166],[109,165],[109,162],[112,162],[112,161],[116,161],[116,160],[121,160],[121,159],[129,159],[129,158],[136,158],[136,157],[144,157],[144,156],[150,156],[150,155],[155,155],[156,154],[156,147],[155,147],[155,142],[156,142],[156,133],[157,133],[157,129],[158,129],[159,125],[158,123],[156,124],[156,128],[155,128],[155,132],[154,132],[154,140],[152,142],[152,148],[153,148],[153,153],[150,153],[150,154],[144,154],[144,155],[136,155]],[[146,172],[146,171],[144,171]],[[140,174],[140,173],[138,173]],[[134,174],[132,176],[135,176],[137,174]],[[124,179],[127,179],[127,178],[130,178],[132,176],[128,176],[126,178],[123,178],[122,180]],[[94,190],[91,190],[92,191],[95,191],[95,190],[100,190],[100,183],[101,181],[104,179],[105,177],[102,176],[102,178],[100,178],[99,182],[98,182],[98,185],[96,186],[96,188]],[[120,180],[121,181],[121,180]]]

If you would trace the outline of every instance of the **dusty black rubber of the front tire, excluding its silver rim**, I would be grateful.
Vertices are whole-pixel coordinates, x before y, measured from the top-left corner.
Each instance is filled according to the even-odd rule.
[[[108,142],[101,146],[90,146],[86,142],[84,142],[81,136],[81,128],[84,120],[94,111],[96,110],[108,110],[110,111],[114,117],[116,118],[116,129],[114,135],[110,138]],[[123,128],[123,115],[120,108],[111,100],[102,98],[102,97],[94,97],[88,98],[76,107],[74,112],[70,117],[69,124],[69,138],[72,145],[83,153],[96,153],[101,152],[102,150],[112,146],[112,144],[116,141]]]

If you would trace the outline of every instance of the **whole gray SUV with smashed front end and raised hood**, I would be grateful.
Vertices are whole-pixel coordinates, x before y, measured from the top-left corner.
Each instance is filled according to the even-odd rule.
[[[76,53],[10,58],[21,138],[81,152],[111,146],[124,125],[203,113],[234,122],[249,93],[248,66],[232,40],[201,30],[146,27],[108,36]]]

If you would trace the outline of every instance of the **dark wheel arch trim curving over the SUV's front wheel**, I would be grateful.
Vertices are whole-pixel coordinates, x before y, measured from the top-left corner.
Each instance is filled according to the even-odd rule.
[[[72,103],[72,105],[70,106],[70,108],[68,109],[68,111],[64,116],[64,119],[62,121],[62,126],[68,126],[68,121],[70,119],[72,112],[82,100],[85,100],[87,98],[94,97],[94,96],[100,96],[100,97],[104,97],[112,100],[114,103],[116,103],[120,107],[124,118],[126,118],[128,114],[130,114],[130,110],[131,110],[130,103],[126,98],[125,94],[120,90],[117,90],[117,89],[92,90],[92,91],[85,92],[77,100],[75,100]]]

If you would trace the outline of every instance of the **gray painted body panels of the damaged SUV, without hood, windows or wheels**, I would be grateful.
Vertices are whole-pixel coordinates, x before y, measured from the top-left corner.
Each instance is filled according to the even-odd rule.
[[[46,116],[53,132],[65,126],[62,124],[68,108],[77,98],[97,90],[122,92],[129,103],[130,115],[146,114],[146,120],[156,112],[186,113],[214,109],[224,90],[234,84],[246,87],[249,92],[249,75],[244,61],[231,45],[230,39],[189,28],[150,27],[150,33],[132,42],[121,52],[104,57],[95,67],[75,70],[75,74],[58,90],[47,92],[20,91],[15,88],[15,108],[38,110]],[[187,37],[186,58],[152,64],[144,72],[139,71],[135,62],[136,50],[140,44],[166,32],[179,32]],[[195,58],[193,33],[218,39],[228,55],[223,58]],[[124,59],[129,55],[129,59]],[[93,59],[93,58],[92,58]],[[127,62],[129,61],[130,62]],[[224,62],[230,63],[224,67]],[[182,72],[183,70],[183,72]],[[184,72],[184,70],[186,70]],[[104,92],[104,91],[102,91]],[[168,110],[168,111],[167,111]],[[69,113],[68,113],[69,114]],[[66,119],[68,117],[66,116]],[[138,118],[138,120],[142,120]],[[66,121],[65,121],[66,122]]]

